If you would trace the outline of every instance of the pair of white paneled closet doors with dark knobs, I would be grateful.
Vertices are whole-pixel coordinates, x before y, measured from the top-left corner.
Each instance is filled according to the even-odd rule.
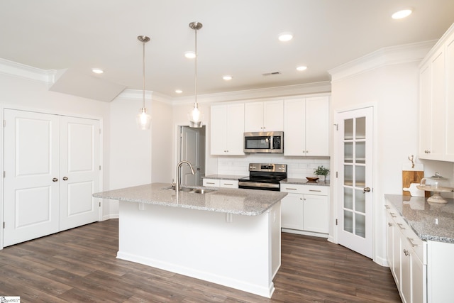
[[[4,110],[4,246],[99,220],[99,120]]]

